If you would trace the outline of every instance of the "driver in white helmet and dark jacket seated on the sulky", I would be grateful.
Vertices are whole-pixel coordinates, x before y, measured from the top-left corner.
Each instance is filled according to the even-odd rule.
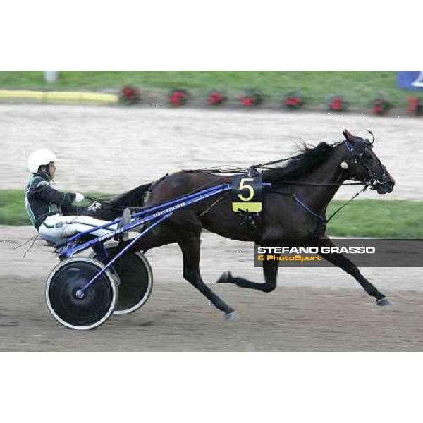
[[[25,208],[32,225],[41,235],[68,238],[95,226],[110,223],[87,216],[97,212],[102,207],[101,203],[93,202],[90,207],[75,206],[73,202],[84,200],[80,192],[59,192],[51,187],[56,173],[56,156],[53,152],[47,149],[32,152],[28,158],[28,169],[32,172],[32,177],[25,189]],[[128,223],[130,210],[125,209],[119,226]],[[116,228],[117,223],[108,228],[97,229],[91,234],[99,237],[113,232]]]

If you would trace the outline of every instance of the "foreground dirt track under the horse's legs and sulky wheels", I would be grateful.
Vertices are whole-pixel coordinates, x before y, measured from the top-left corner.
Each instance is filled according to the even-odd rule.
[[[114,316],[85,333],[64,329],[44,302],[44,284],[58,262],[37,242],[25,259],[30,227],[0,227],[0,350],[422,350],[423,284],[420,269],[364,269],[394,305],[377,307],[353,278],[336,268],[281,269],[279,286],[264,294],[214,286],[240,319],[221,312],[183,281],[180,252],[168,245],[147,254],[154,289],[147,304]],[[216,255],[216,250],[221,252]],[[221,271],[262,281],[243,243],[205,233],[202,273]],[[311,288],[312,287],[312,288]]]

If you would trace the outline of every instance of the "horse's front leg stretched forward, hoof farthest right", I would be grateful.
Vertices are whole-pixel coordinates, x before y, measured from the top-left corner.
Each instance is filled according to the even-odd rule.
[[[321,238],[320,240],[321,245],[324,245],[325,247],[334,247],[335,245],[332,243],[332,240],[328,237]],[[350,259],[347,259],[343,254],[341,253],[325,253],[321,254],[321,257],[324,257],[328,262],[331,262],[335,266],[340,267],[343,269],[343,271],[346,271],[348,274],[353,276],[358,283],[364,288],[364,290],[371,295],[372,297],[376,298],[376,304],[377,305],[388,305],[391,304],[391,302],[388,300],[388,298],[385,297],[384,294],[379,292],[372,283],[367,281],[366,278],[360,273],[360,270],[358,270],[357,266],[353,262],[351,262]]]

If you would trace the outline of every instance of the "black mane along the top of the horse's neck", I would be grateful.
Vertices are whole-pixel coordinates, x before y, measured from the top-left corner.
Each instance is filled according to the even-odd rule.
[[[299,152],[297,154],[281,160],[281,164],[278,164],[277,161],[273,162],[274,168],[263,166],[265,169],[262,172],[263,180],[266,182],[296,180],[329,159],[335,147],[336,144],[329,145],[326,142],[320,142],[317,146],[304,143],[298,148]]]

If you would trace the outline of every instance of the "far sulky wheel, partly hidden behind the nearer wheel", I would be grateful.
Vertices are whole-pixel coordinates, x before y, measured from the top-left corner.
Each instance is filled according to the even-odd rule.
[[[115,257],[115,243],[105,245],[109,253],[108,261]],[[95,252],[90,257],[97,259]],[[148,260],[141,252],[128,252],[111,266],[118,276],[118,299],[114,314],[128,314],[147,302],[153,288],[153,272]]]

